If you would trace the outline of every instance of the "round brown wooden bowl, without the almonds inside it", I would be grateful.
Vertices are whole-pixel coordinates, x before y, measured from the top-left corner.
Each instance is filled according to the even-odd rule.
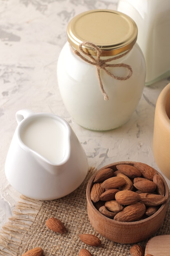
[[[134,222],[121,222],[117,220],[110,219],[100,213],[94,206],[90,192],[93,186],[93,181],[97,173],[105,168],[113,168],[118,164],[130,164],[133,165],[135,162],[116,162],[113,164],[108,164],[104,166],[99,171],[97,171],[88,181],[86,188],[86,198],[87,198],[87,213],[88,218],[91,222],[93,228],[102,236],[116,243],[137,243],[139,241],[145,240],[150,236],[154,235],[155,232],[161,227],[163,220],[166,216],[167,200],[161,205],[161,207],[152,216],[147,217],[143,220]],[[156,170],[155,170],[156,171]],[[156,173],[161,177],[165,186],[165,196],[168,198],[169,190],[166,180],[163,176],[156,171]]]

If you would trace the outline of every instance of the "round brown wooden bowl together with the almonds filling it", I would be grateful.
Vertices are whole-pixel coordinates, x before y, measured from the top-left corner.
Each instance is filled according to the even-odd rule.
[[[125,183],[120,179],[110,177],[110,175],[107,177],[107,173],[104,173],[105,169],[106,172],[112,169],[113,177],[125,176]],[[106,177],[106,180],[98,182],[100,173],[102,177]],[[120,173],[123,175],[120,175]],[[100,198],[105,198],[101,194],[97,202],[93,201],[91,191],[95,184],[96,175],[97,182],[101,186],[98,184],[96,188],[99,189],[100,193],[104,193],[103,189],[105,191],[110,190],[109,194],[112,190],[115,193],[117,189],[117,195],[115,193],[113,198],[110,197],[111,200],[101,200]],[[158,175],[159,180],[162,182],[155,182],[155,180],[158,180],[158,176],[155,175]],[[129,180],[133,186],[126,186],[126,182],[129,182]],[[137,182],[139,183],[137,184]],[[155,182],[156,186],[152,182]],[[150,185],[153,187],[152,190]],[[160,188],[159,186],[162,187]],[[163,190],[165,191],[164,195],[162,195]],[[93,191],[94,193],[97,194],[98,191]],[[134,193],[137,193],[137,195],[134,196]],[[94,229],[108,240],[115,243],[137,243],[154,235],[159,227],[161,227],[166,215],[168,196],[169,191],[166,180],[151,166],[138,162],[116,162],[104,166],[90,178],[86,188],[88,218]],[[106,214],[107,216],[105,216],[105,212],[108,213],[110,209],[114,211],[114,206],[117,203],[121,203],[123,206],[119,207],[119,212],[116,212],[116,209],[115,213],[112,212],[112,214]],[[100,207],[103,207],[105,211],[100,211]],[[146,213],[153,207],[155,211],[152,211],[151,216],[148,216]]]

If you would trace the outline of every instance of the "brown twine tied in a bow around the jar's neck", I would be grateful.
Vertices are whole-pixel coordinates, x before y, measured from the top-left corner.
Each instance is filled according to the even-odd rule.
[[[84,49],[83,49],[83,46],[88,46],[89,48],[93,49],[96,52],[96,58],[94,58],[89,52],[85,52]],[[113,60],[117,60],[117,59],[125,56],[126,54],[128,54],[128,52],[130,52],[130,50],[128,50],[124,54],[120,54],[118,56],[102,60],[100,58],[101,54],[102,54],[102,50],[97,45],[85,41],[85,42],[83,42],[83,43],[81,43],[79,45],[79,52],[77,50],[73,50],[73,51],[74,51],[74,53],[77,56],[82,58],[82,60],[86,61],[87,63],[89,63],[91,65],[95,65],[96,66],[97,77],[99,79],[100,89],[102,91],[102,94],[104,95],[104,100],[108,100],[108,95],[105,92],[104,87],[103,87],[102,79],[100,77],[100,69],[104,70],[104,72],[106,72],[106,74],[111,76],[113,79],[117,79],[117,80],[127,80],[132,75],[132,67],[130,65],[128,65],[128,64],[124,64],[124,63],[109,64],[109,63],[107,63],[107,62],[110,62],[110,61],[113,61]],[[84,55],[88,56],[88,58],[86,58]],[[125,68],[128,69],[129,72],[128,72],[127,76],[116,76],[116,75],[112,74],[111,72],[109,72],[106,69],[106,67],[125,67]]]

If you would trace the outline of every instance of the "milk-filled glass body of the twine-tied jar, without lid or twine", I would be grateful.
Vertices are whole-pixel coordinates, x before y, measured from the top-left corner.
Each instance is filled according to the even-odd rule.
[[[62,100],[71,117],[84,128],[118,128],[130,119],[139,103],[146,75],[144,56],[139,46],[135,44],[128,54],[110,63],[126,63],[132,67],[133,73],[129,79],[121,81],[100,69],[103,87],[109,98],[106,101],[99,87],[96,67],[76,56],[68,42],[60,52],[57,80]],[[128,74],[125,67],[107,69],[117,76]]]

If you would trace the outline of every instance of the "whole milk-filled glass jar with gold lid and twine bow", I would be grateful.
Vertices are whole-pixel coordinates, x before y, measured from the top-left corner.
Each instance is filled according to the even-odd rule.
[[[118,11],[86,11],[68,23],[67,37],[57,63],[66,109],[77,124],[90,130],[122,126],[145,85],[136,23]]]

